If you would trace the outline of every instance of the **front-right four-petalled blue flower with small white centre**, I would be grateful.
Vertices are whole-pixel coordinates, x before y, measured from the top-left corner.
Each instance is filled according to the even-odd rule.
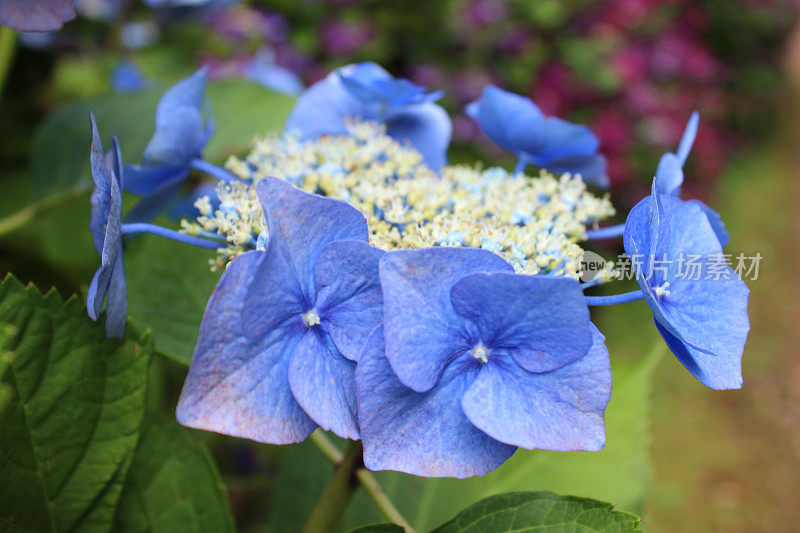
[[[444,247],[389,252],[380,279],[356,371],[367,468],[463,478],[517,446],[603,447],[608,352],[576,281]]]

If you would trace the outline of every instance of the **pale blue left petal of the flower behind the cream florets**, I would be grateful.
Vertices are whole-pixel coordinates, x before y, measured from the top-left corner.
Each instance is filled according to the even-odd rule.
[[[301,139],[344,135],[346,118],[376,120],[377,115],[344,88],[334,71],[300,94],[284,130],[299,134]]]

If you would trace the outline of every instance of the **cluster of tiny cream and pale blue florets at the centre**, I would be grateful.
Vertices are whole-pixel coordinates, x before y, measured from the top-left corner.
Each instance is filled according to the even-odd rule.
[[[262,248],[268,228],[255,184],[265,176],[285,179],[304,191],[348,202],[367,218],[370,242],[385,250],[468,246],[495,252],[526,274],[578,278],[586,228],[613,215],[607,196],[586,191],[579,176],[538,177],[502,168],[450,166],[440,174],[422,156],[370,122],[353,122],[349,135],[300,141],[291,134],[257,140],[228,169],[242,183],[221,183],[216,210],[208,198],[195,204],[197,221],[183,221],[190,234],[222,235],[229,243],[212,267]],[[602,272],[613,275],[613,265]]]

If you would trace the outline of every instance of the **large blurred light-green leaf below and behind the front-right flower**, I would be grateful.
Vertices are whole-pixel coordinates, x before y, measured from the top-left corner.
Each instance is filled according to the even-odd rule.
[[[420,531],[428,531],[465,505],[491,495],[520,490],[553,490],[611,500],[638,511],[650,482],[648,406],[652,372],[663,356],[659,345],[637,363],[612,364],[614,388],[606,410],[607,443],[603,451],[545,452],[518,450],[486,476],[466,480],[421,478],[398,472],[375,472],[389,498]],[[330,469],[313,445],[286,454],[273,497],[270,520],[275,529],[299,530]],[[289,490],[289,489],[292,490]],[[347,527],[379,522],[372,502],[359,492],[345,518]]]

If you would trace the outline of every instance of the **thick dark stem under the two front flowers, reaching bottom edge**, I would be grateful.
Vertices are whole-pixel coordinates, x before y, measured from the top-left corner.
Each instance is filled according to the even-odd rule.
[[[355,473],[361,465],[361,459],[361,442],[354,442],[322,491],[317,506],[303,526],[303,533],[328,533],[336,528],[358,489]]]

